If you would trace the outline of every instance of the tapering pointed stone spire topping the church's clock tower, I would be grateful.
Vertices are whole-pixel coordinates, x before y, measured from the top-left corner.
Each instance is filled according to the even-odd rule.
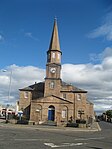
[[[54,26],[53,26],[53,31],[52,31],[52,37],[51,37],[51,42],[49,46],[49,51],[50,50],[58,50],[60,51],[60,43],[59,43],[59,37],[58,37],[58,27],[57,27],[57,20],[56,18],[54,19]]]

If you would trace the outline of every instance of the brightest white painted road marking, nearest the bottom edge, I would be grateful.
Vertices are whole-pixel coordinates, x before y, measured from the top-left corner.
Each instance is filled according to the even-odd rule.
[[[55,145],[54,143],[44,143],[46,146],[50,146],[51,148],[58,148],[58,147],[70,147],[70,146],[80,146],[87,143],[62,143],[61,145]]]

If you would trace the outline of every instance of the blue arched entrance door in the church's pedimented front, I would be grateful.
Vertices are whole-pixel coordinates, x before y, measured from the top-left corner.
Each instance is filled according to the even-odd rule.
[[[51,105],[48,108],[48,120],[54,121],[54,119],[55,119],[55,107]]]

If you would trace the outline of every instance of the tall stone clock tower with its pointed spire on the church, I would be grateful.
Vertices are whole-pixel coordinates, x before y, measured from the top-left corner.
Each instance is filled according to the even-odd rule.
[[[47,51],[46,78],[44,96],[60,96],[61,89],[61,55],[57,21],[54,20],[52,37],[49,50]]]

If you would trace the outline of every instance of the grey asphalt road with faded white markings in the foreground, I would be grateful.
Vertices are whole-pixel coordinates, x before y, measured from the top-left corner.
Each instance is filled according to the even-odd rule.
[[[100,126],[98,132],[0,126],[0,149],[112,149],[112,124]]]

